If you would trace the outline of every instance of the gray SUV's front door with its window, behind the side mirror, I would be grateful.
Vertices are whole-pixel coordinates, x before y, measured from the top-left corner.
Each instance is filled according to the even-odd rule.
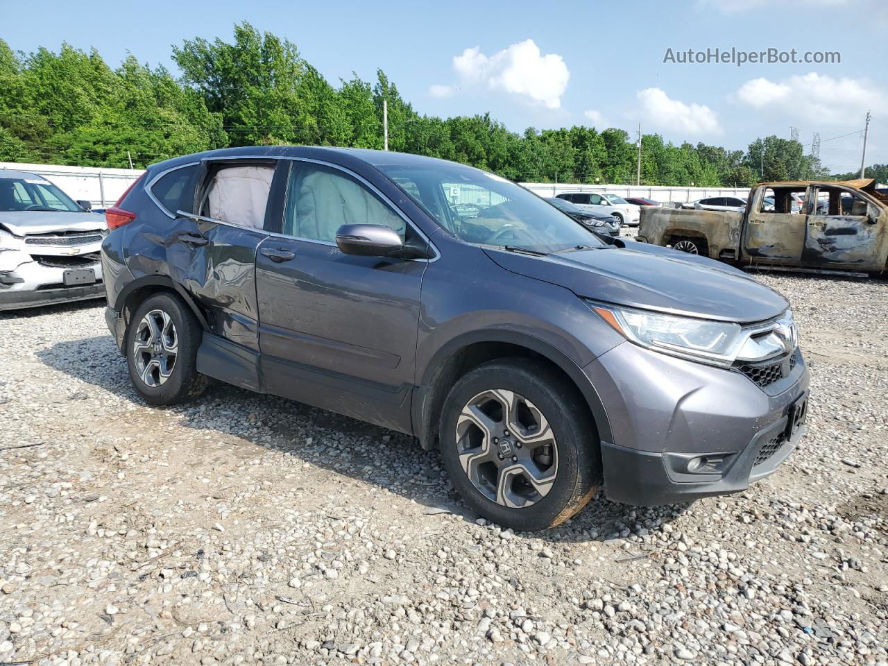
[[[427,262],[346,255],[336,232],[345,224],[415,232],[345,170],[291,164],[281,234],[262,242],[256,259],[266,389],[410,432]]]

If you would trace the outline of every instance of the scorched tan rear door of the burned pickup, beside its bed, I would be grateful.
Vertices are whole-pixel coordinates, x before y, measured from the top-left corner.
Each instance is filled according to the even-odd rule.
[[[792,212],[792,190],[759,187],[743,229],[745,258],[753,263],[797,266],[805,246],[806,219],[804,209]]]

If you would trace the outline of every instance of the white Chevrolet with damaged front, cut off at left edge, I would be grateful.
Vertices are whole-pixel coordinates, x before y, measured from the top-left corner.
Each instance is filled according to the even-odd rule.
[[[0,171],[0,311],[101,298],[105,218],[49,180]]]

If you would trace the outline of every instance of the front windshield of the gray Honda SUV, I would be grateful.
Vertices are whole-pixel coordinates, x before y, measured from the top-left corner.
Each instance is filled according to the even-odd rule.
[[[534,252],[607,247],[536,194],[487,171],[456,163],[378,168],[465,242]]]

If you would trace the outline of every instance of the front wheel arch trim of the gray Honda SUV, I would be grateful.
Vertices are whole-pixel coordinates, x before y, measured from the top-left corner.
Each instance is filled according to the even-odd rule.
[[[566,353],[526,333],[506,329],[482,329],[452,338],[426,364],[412,403],[414,431],[422,448],[429,450],[434,447],[441,409],[449,388],[456,380],[481,363],[513,356],[539,358],[559,369],[583,396],[598,428],[599,439],[613,439],[604,403],[598,392],[583,374],[583,370]]]

